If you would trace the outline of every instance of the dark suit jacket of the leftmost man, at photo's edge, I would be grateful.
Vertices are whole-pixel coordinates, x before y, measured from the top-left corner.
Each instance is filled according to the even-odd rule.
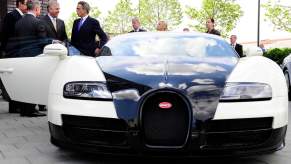
[[[3,20],[2,33],[1,33],[1,49],[5,50],[8,39],[15,35],[15,24],[20,20],[22,16],[14,9],[10,13],[6,14]]]

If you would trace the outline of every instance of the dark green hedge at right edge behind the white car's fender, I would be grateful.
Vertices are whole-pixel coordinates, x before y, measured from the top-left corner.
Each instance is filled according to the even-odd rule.
[[[278,64],[282,64],[284,58],[291,53],[291,48],[274,48],[268,50],[264,56]]]

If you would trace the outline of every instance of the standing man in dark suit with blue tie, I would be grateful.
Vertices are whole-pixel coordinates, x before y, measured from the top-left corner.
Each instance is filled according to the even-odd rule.
[[[99,22],[88,16],[90,6],[87,2],[80,1],[77,5],[77,15],[73,24],[71,43],[84,55],[96,56],[100,53],[101,47],[108,41],[107,35],[100,27]],[[99,44],[96,41],[98,35]]]

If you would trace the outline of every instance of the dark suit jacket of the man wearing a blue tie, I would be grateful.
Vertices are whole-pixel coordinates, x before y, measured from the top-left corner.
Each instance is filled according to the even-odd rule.
[[[107,35],[100,27],[98,20],[90,16],[87,17],[80,30],[78,30],[80,20],[79,18],[74,21],[71,44],[84,55],[95,56],[95,49],[101,48],[108,41]],[[100,39],[99,43],[96,41],[96,35]]]

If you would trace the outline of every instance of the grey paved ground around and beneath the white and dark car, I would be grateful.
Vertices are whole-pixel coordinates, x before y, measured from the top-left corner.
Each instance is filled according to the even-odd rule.
[[[291,118],[290,112],[289,118]],[[289,127],[291,127],[290,124],[289,122]],[[19,114],[9,114],[8,103],[0,97],[0,164],[83,163],[289,164],[291,163],[291,132],[287,130],[286,146],[283,150],[247,158],[165,159],[92,155],[64,150],[52,145],[47,117],[30,118],[20,117]]]

